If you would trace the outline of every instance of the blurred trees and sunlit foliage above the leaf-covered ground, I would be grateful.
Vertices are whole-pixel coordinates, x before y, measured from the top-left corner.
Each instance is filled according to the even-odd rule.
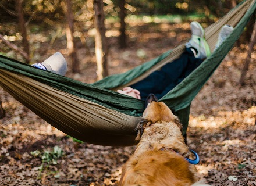
[[[121,48],[126,47],[126,36],[130,36],[130,22],[146,23],[180,23],[190,19],[200,19],[211,23],[225,15],[239,1],[8,1],[0,2],[1,39],[8,45],[2,53],[14,57],[9,48],[18,51],[27,63],[40,62],[42,55],[40,43],[52,47],[55,40],[66,42],[71,56],[73,73],[80,72],[80,60],[76,48],[98,48],[97,59],[98,80],[108,76],[107,56],[108,39],[119,37]],[[106,25],[105,25],[106,24]],[[249,27],[251,31],[251,27]],[[107,32],[106,32],[106,31]],[[48,34],[43,34],[48,31]],[[31,34],[37,35],[31,38]],[[106,37],[105,37],[106,36]],[[95,42],[90,37],[95,38]],[[248,38],[248,37],[246,37]],[[11,41],[11,42],[9,42]],[[19,43],[22,42],[22,44]],[[58,42],[58,41],[56,41]],[[93,43],[92,43],[93,42]],[[1,42],[2,43],[2,42]],[[16,46],[13,44],[15,43]],[[19,47],[17,47],[19,46]],[[21,47],[23,46],[23,47]],[[19,54],[18,53],[18,54]],[[34,55],[35,54],[35,55]],[[104,54],[104,55],[103,55]],[[19,56],[17,56],[19,59]]]

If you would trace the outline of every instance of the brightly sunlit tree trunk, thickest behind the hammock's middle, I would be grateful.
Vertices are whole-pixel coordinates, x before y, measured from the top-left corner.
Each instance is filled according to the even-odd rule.
[[[103,0],[94,0],[95,55],[97,61],[98,80],[108,76],[108,45],[106,43],[106,30],[104,24]]]

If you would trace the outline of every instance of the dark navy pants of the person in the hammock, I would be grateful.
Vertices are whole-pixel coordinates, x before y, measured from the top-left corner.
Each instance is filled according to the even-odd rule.
[[[160,99],[176,87],[176,85],[198,67],[202,61],[202,59],[195,58],[194,53],[186,48],[186,51],[179,59],[174,60],[172,63],[167,63],[161,69],[154,71],[150,76],[130,87],[140,91],[140,96],[143,100],[145,100],[150,93],[155,94],[155,96]]]

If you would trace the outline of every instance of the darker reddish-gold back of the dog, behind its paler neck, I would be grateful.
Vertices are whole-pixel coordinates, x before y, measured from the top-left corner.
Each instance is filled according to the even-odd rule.
[[[120,185],[192,185],[194,173],[189,170],[189,163],[176,152],[168,149],[152,149],[139,158],[133,156],[122,170],[125,175]]]

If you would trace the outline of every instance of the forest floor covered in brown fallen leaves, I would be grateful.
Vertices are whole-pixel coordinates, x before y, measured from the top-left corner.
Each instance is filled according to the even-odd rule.
[[[190,37],[189,23],[143,24],[130,29],[126,49],[110,44],[109,73],[127,71]],[[30,35],[33,40],[36,34]],[[80,74],[67,76],[86,83],[97,80],[94,48],[80,45]],[[35,42],[35,41],[34,41]],[[93,42],[91,42],[93,43]],[[0,45],[3,44],[0,42]],[[65,41],[39,42],[34,60],[61,51]],[[191,105],[188,145],[201,158],[198,172],[211,185],[256,185],[256,49],[245,85],[238,84],[247,45],[237,44]],[[10,52],[13,55],[13,52]],[[15,55],[14,55],[15,56]],[[19,55],[17,55],[19,56]],[[111,147],[73,141],[25,108],[0,88],[6,117],[0,120],[1,185],[116,185],[135,146]]]

